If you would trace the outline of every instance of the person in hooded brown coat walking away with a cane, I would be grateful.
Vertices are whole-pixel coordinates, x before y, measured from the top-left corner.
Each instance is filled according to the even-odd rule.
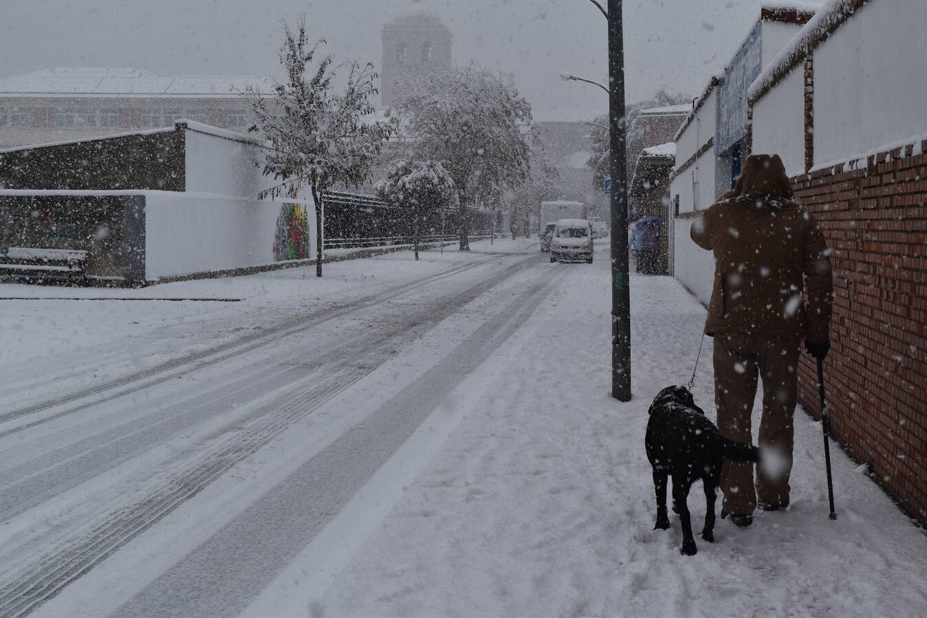
[[[743,526],[757,506],[789,504],[801,340],[815,358],[830,350],[829,251],[814,217],[791,198],[779,155],[755,154],[735,188],[692,224],[692,240],[715,254],[705,334],[715,338],[717,426],[725,438],[753,442],[756,378],[763,380],[758,444],[768,465],[757,466],[756,490],[753,464],[729,462],[721,473],[721,515]]]

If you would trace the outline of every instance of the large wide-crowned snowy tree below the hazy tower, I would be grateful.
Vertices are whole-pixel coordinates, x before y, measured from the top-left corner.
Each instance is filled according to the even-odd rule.
[[[469,251],[466,208],[479,195],[527,179],[531,105],[497,74],[471,64],[405,80],[389,110],[416,158],[440,161],[460,196],[460,248]]]

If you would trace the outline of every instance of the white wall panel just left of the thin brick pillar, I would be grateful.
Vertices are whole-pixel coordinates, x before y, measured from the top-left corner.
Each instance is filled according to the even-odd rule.
[[[789,176],[805,173],[805,63],[754,104],[753,154],[779,154]]]

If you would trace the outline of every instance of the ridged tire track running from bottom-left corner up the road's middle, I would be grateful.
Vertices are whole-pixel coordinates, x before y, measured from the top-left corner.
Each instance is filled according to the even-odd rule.
[[[494,255],[486,261],[498,258],[499,256]],[[13,618],[32,612],[44,601],[56,596],[61,589],[88,573],[96,564],[103,562],[133,538],[157,524],[185,501],[196,496],[235,464],[281,435],[288,426],[313,413],[324,402],[386,362],[396,347],[397,340],[414,339],[422,331],[437,326],[441,320],[456,313],[466,303],[475,300],[503,280],[538,262],[536,256],[519,260],[467,290],[438,299],[436,306],[413,312],[395,328],[372,333],[373,340],[369,341],[368,352],[363,354],[362,362],[359,362],[357,351],[353,347],[348,352],[342,351],[342,358],[330,363],[326,369],[326,377],[321,382],[299,389],[282,401],[260,407],[246,419],[236,421],[233,427],[223,427],[211,437],[222,439],[223,445],[208,451],[205,458],[196,457],[197,453],[202,452],[201,445],[195,445],[188,452],[180,453],[178,459],[183,460],[189,455],[196,463],[165,479],[161,487],[154,490],[145,500],[137,501],[116,513],[108,513],[107,521],[97,525],[88,534],[67,539],[63,544],[53,547],[49,547],[54,543],[52,539],[38,538],[32,544],[20,548],[19,560],[25,568],[20,567],[18,575],[13,575],[0,584],[0,615]],[[472,266],[483,263],[478,262]],[[462,269],[440,275],[443,278],[460,272]],[[420,279],[414,285],[422,285],[423,280],[432,282],[436,278],[438,276]],[[403,287],[414,286],[409,284]],[[395,296],[398,293],[394,289],[388,295]],[[296,328],[309,327],[300,325]],[[495,345],[498,345],[498,342]],[[240,430],[235,431],[236,428]],[[66,530],[62,532],[67,533]],[[35,556],[38,556],[37,560]],[[32,558],[31,563],[26,563],[29,558]]]

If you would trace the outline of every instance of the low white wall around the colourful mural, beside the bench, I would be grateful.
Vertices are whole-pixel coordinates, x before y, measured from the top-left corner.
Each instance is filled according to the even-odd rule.
[[[302,202],[302,201],[300,201]],[[274,264],[282,202],[146,192],[146,279]],[[310,255],[315,211],[309,208]]]

